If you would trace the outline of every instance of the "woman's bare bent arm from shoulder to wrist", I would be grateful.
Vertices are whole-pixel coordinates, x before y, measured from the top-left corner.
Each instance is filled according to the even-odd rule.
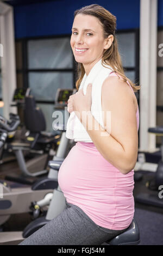
[[[87,118],[93,120],[92,130],[89,130],[88,119],[82,119],[84,127],[102,156],[120,170],[127,174],[135,166],[138,150],[138,135],[136,113],[133,101],[133,92],[127,83],[117,77],[108,77],[102,86],[102,111],[105,112],[103,123],[105,130],[92,117],[91,112]],[[111,131],[106,121],[106,112],[111,113]],[[109,135],[110,133],[110,135]]]

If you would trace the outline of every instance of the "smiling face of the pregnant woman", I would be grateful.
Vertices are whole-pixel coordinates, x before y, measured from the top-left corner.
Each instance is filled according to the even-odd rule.
[[[108,40],[104,39],[99,20],[91,15],[78,14],[72,25],[70,44],[76,62],[96,63],[103,56]]]

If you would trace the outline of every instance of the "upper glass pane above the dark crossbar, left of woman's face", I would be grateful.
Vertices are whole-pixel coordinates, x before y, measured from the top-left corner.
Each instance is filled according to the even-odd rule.
[[[28,63],[29,69],[73,68],[70,38],[30,40]]]

